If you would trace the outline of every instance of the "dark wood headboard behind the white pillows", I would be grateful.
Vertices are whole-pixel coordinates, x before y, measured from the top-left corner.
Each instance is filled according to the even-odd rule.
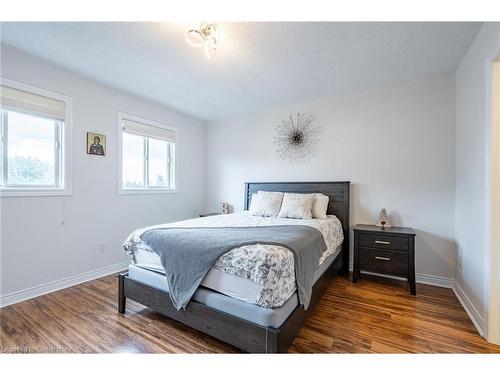
[[[250,207],[252,194],[257,191],[281,191],[284,193],[321,193],[328,195],[328,215],[339,218],[344,229],[344,266],[349,264],[349,181],[335,182],[246,182],[245,210]]]

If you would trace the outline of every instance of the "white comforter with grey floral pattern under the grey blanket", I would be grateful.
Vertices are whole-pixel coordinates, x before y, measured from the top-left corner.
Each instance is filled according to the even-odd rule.
[[[126,249],[137,248],[140,236],[151,229],[168,227],[251,227],[273,225],[307,225],[323,234],[327,250],[319,264],[344,240],[340,220],[329,215],[326,219],[287,219],[251,216],[248,212],[229,215],[207,216],[174,223],[141,228],[133,232],[125,241]],[[135,244],[135,246],[130,246]],[[130,253],[133,258],[133,253]],[[220,271],[244,277],[262,285],[257,304],[262,307],[278,307],[295,292],[295,271],[293,254],[290,250],[276,245],[248,245],[233,249],[222,255],[214,265]]]

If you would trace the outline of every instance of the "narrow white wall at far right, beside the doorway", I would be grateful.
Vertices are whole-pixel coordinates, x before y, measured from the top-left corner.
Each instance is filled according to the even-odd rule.
[[[488,258],[489,91],[500,53],[500,23],[486,23],[456,71],[455,233],[461,266],[457,282],[482,320]],[[493,228],[492,230],[498,230]]]

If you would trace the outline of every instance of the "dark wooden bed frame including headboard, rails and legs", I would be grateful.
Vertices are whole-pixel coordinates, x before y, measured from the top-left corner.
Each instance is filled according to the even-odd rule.
[[[191,301],[185,310],[173,307],[167,292],[132,280],[128,273],[118,276],[118,312],[125,313],[127,298],[163,315],[213,336],[249,353],[284,353],[327,289],[332,278],[347,274],[349,266],[349,182],[249,182],[245,184],[245,209],[259,190],[289,193],[323,193],[330,197],[327,213],[342,223],[344,242],[341,253],[316,281],[309,308],[298,305],[279,328],[264,327],[223,311]]]

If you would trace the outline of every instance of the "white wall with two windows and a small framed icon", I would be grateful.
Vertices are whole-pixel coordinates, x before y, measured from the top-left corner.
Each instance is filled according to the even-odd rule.
[[[147,72],[145,72],[147,74]],[[1,295],[127,260],[121,244],[138,227],[203,209],[205,125],[2,46],[1,75],[73,98],[73,194],[1,198]],[[117,194],[117,112],[179,127],[179,193]],[[86,132],[107,136],[107,156],[86,155]],[[106,251],[98,253],[99,244]]]

